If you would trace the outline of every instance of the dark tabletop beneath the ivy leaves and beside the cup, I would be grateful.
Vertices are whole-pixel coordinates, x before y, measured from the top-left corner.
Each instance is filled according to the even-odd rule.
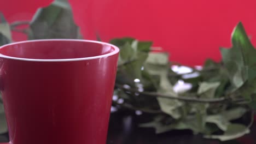
[[[254,144],[256,143],[256,124],[251,133],[240,139],[220,142],[203,139],[201,135],[193,135],[189,130],[175,130],[156,135],[153,128],[139,128],[141,118],[136,115],[115,112],[110,115],[107,144]],[[0,135],[0,142],[8,142],[8,134]]]

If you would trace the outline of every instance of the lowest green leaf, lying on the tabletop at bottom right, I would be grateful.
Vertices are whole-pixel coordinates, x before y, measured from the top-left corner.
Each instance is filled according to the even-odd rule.
[[[236,139],[245,134],[248,134],[250,130],[242,124],[229,124],[227,130],[223,135],[206,135],[205,138],[208,139],[219,139],[220,141],[228,141]]]

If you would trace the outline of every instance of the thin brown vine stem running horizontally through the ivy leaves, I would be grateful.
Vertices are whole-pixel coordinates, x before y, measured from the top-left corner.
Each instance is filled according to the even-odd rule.
[[[146,92],[146,91],[139,92],[137,89],[125,88],[123,85],[119,85],[117,83],[115,84],[115,86],[118,87],[119,89],[122,89],[123,91],[126,91],[126,92],[139,93],[139,94],[148,95],[150,97],[156,97],[156,98],[159,97],[159,98],[167,98],[167,99],[177,99],[177,100],[197,102],[197,103],[221,103],[221,102],[229,100],[229,98],[226,98],[226,97],[213,98],[213,99],[184,97],[184,96],[176,97],[174,95],[160,94],[160,93],[156,93],[156,92]]]

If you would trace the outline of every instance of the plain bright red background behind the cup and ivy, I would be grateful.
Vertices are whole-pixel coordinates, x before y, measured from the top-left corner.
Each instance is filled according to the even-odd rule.
[[[0,11],[9,22],[30,20],[38,7],[51,0],[0,0]],[[230,34],[242,21],[256,35],[255,0],[70,0],[74,18],[85,39],[103,41],[130,36],[152,40],[183,64],[220,59],[219,47],[229,47]],[[256,36],[255,36],[256,37]],[[22,40],[21,35],[14,35]],[[255,44],[256,39],[252,37]]]

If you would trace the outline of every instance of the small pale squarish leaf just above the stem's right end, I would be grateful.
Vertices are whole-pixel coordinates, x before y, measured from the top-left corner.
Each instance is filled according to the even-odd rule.
[[[220,82],[201,82],[197,94],[203,98],[214,98],[216,89],[219,85]]]

